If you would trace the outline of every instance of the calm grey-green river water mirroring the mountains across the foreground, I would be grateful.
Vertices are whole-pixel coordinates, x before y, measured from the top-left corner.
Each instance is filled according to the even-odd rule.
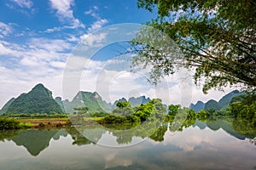
[[[2,132],[0,169],[256,169],[254,136],[227,121],[197,121],[182,132],[165,125],[148,138],[83,132],[94,142],[75,128]]]

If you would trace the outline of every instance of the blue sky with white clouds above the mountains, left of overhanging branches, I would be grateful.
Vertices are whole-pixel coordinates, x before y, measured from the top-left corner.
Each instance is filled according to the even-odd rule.
[[[148,68],[131,72],[132,54],[118,54],[140,24],[156,17],[156,10],[137,8],[136,0],[0,2],[0,107],[38,83],[54,97],[73,99],[76,90],[97,91],[112,103],[146,95],[166,104],[189,105],[218,100],[233,90],[202,94],[191,78],[184,81],[186,71],[153,87],[147,82]],[[73,67],[78,74],[71,74]]]

